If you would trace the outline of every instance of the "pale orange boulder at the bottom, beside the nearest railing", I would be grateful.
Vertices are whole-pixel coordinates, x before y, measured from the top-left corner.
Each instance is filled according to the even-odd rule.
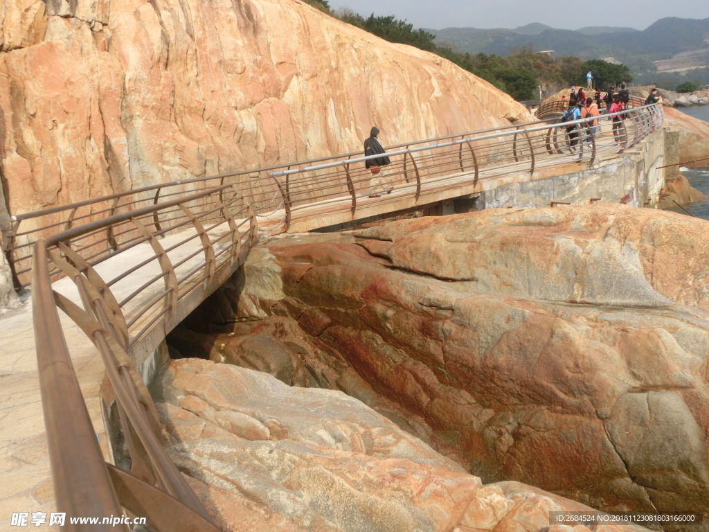
[[[169,452],[224,531],[537,532],[550,511],[589,510],[518,482],[484,486],[340,392],[196,359],[161,384]]]

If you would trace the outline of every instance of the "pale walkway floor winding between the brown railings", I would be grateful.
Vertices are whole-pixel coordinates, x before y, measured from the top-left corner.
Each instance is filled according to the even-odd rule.
[[[599,157],[599,161],[614,157],[616,156],[613,153],[603,154],[603,157]],[[538,170],[535,174],[530,176],[526,171],[526,177],[523,177],[525,174],[523,166],[513,164],[505,170],[496,168],[489,172],[481,172],[481,180],[485,179],[488,182],[484,189],[499,187],[518,179],[528,181],[578,172],[582,165],[569,160],[554,167],[545,167],[541,162],[537,165]],[[445,184],[439,186],[435,181],[427,182],[423,184],[421,196],[426,203],[430,203],[470,194],[473,192],[470,182],[469,174],[449,176]],[[362,209],[364,216],[386,214],[411,208],[415,204],[414,188],[411,184],[403,184],[391,195],[385,194],[378,199],[362,197],[357,201],[364,207]],[[550,198],[549,201],[553,199]],[[603,198],[602,201],[618,202],[619,200],[620,198],[608,197]],[[588,199],[579,199],[579,201],[588,203]],[[342,216],[342,211],[347,211],[346,206],[349,202],[349,198],[343,197],[341,200],[330,201],[327,206],[317,204],[304,206],[298,214],[299,221],[293,224],[291,231],[310,231],[313,228],[340,223],[339,217]],[[332,216],[328,216],[328,211],[332,211]],[[282,212],[276,212],[272,214],[270,220],[262,218],[259,223],[263,222],[266,227],[271,225],[274,230],[272,234],[275,234],[279,232],[277,223],[281,218]],[[182,233],[171,235],[167,239],[179,238],[180,235]],[[141,246],[136,246],[131,253],[123,253],[115,259],[106,261],[101,268],[97,268],[97,271],[104,279],[113,279],[119,272],[140,262],[141,253],[145,254],[143,256],[152,253],[147,244]],[[189,249],[185,249],[185,256],[189,252]],[[198,255],[186,262],[184,267],[194,267],[195,261],[199,260],[201,259]],[[116,299],[121,300],[122,297],[130,294],[133,287],[140,286],[154,273],[155,271],[151,272],[150,268],[141,269],[125,279],[125,282],[121,282],[116,289],[112,287]],[[52,287],[70,299],[79,301],[70,279],[61,279]],[[150,294],[140,294],[140,298],[137,299],[145,301],[150,297]],[[140,301],[135,301],[135,304],[139,303]],[[94,345],[79,327],[62,312],[60,318],[79,384],[94,422],[96,435],[104,450],[104,456],[108,457],[111,453],[106,445],[103,409],[99,399],[99,387],[104,378],[104,364]],[[50,514],[55,511],[55,507],[35,355],[31,301],[26,301],[21,308],[7,311],[0,316],[0,388],[2,389],[0,395],[0,531],[25,529],[23,526],[13,526],[11,521],[13,514],[19,513],[26,514],[26,526],[31,530],[61,530],[61,527],[48,525]],[[67,522],[68,519],[69,516]],[[35,526],[36,522],[40,525]]]

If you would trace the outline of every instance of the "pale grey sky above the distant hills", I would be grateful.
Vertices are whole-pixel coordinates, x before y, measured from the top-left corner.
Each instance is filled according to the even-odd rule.
[[[552,28],[624,26],[644,30],[659,18],[709,18],[709,1],[593,0],[581,4],[550,0],[328,0],[367,17],[394,15],[414,28],[517,28],[540,22]],[[613,15],[611,16],[611,13]]]

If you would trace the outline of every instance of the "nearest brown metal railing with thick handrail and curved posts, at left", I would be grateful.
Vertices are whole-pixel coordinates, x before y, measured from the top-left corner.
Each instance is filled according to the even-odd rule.
[[[90,260],[77,252],[87,237],[106,235],[108,229],[126,235],[110,252]],[[126,509],[147,517],[157,531],[218,531],[163,448],[155,406],[130,350],[152,328],[164,335],[177,306],[195,291],[201,301],[216,289],[245,260],[256,235],[250,205],[235,187],[223,185],[69,228],[35,243],[35,339],[59,511],[107,517],[121,516]],[[52,285],[50,265],[68,279]],[[104,461],[57,309],[77,323],[104,361],[102,399],[106,409],[118,412],[130,471]],[[69,531],[109,529],[128,527],[67,523]]]

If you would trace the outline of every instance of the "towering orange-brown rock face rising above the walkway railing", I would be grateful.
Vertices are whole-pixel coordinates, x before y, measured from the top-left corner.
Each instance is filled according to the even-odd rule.
[[[490,84],[294,0],[9,0],[11,214],[525,120]]]

